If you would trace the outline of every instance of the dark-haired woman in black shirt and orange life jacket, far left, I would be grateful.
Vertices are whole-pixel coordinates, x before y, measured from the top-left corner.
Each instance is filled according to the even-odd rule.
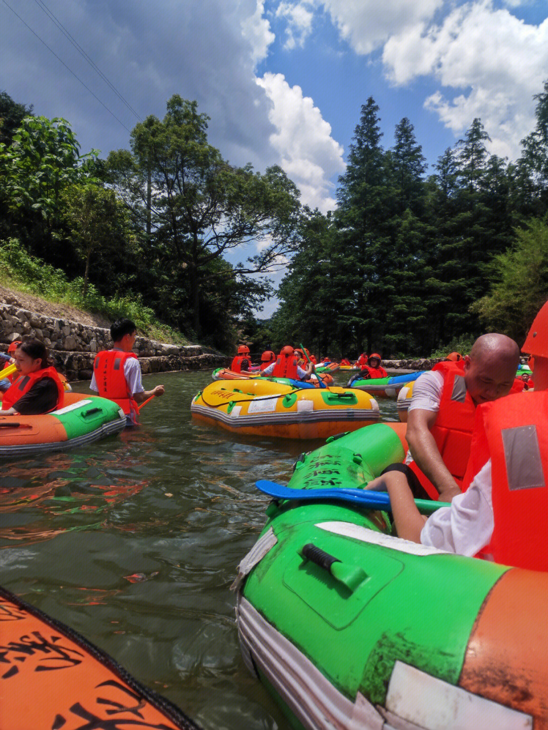
[[[39,415],[63,405],[64,388],[39,339],[26,339],[15,349],[17,374],[4,393],[0,415]]]

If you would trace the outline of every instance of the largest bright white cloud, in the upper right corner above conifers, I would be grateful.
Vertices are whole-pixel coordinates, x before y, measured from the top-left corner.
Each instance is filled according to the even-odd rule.
[[[548,68],[548,19],[528,25],[491,0],[455,8],[439,26],[417,23],[391,37],[382,59],[390,80],[404,85],[432,75],[438,90],[425,99],[455,135],[482,119],[490,150],[516,158],[520,139],[534,126],[533,94],[542,89]],[[449,96],[449,98],[448,98]]]

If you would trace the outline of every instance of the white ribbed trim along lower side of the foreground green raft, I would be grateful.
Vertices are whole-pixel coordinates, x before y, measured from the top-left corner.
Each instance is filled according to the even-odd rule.
[[[274,629],[241,594],[236,606],[236,621],[246,665],[252,666],[252,661],[255,661],[269,683],[306,728],[387,728],[384,718],[371,702],[359,693],[356,702],[341,694],[312,661]]]

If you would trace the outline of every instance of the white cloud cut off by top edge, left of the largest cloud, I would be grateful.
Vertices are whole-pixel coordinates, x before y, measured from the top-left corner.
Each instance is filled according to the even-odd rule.
[[[431,20],[444,0],[315,0],[331,14],[341,37],[356,53],[382,46],[402,28]]]

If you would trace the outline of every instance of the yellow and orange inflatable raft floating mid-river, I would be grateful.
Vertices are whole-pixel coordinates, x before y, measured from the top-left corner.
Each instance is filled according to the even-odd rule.
[[[377,401],[368,393],[292,387],[266,378],[210,383],[190,411],[233,433],[287,439],[324,439],[379,420]]]

